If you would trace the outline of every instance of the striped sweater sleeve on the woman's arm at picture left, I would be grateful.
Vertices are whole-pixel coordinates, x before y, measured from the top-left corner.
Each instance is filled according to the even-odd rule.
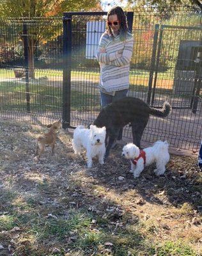
[[[97,49],[97,60],[98,62],[104,63],[104,64],[109,64],[111,61],[114,61],[120,57],[120,54],[118,53],[118,51],[111,52],[111,53],[100,52],[101,49],[105,49],[105,45],[107,44],[107,42],[108,40],[106,36],[103,34],[100,38],[100,42]]]

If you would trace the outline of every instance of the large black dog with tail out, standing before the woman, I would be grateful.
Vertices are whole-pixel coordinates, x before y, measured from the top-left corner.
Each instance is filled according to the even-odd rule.
[[[105,158],[109,156],[114,140],[118,138],[120,129],[125,125],[130,124],[132,127],[133,143],[140,148],[140,141],[149,116],[166,117],[170,112],[171,105],[168,102],[164,102],[162,109],[155,109],[150,108],[143,100],[134,97],[118,99],[102,108],[94,125],[106,127]]]

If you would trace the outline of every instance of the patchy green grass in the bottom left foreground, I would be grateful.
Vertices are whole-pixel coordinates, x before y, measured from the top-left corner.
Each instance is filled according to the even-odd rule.
[[[32,207],[28,207],[30,202]],[[24,238],[22,239],[21,236],[21,240],[19,239],[17,243],[19,244],[19,248],[16,250],[17,253],[23,252],[24,255],[40,255],[42,250],[45,252],[45,248],[42,249],[43,244],[49,243],[49,241],[52,241],[54,244],[60,244],[59,255],[65,255],[62,248],[65,246],[66,241],[68,241],[68,248],[72,252],[79,250],[84,252],[84,255],[91,255],[92,253],[96,253],[95,255],[109,255],[101,253],[108,252],[108,250],[105,250],[106,246],[104,244],[109,243],[109,241],[113,244],[113,248],[111,248],[111,253],[113,254],[111,255],[117,256],[128,255],[128,248],[133,251],[134,246],[137,247],[140,244],[141,247],[146,246],[141,242],[143,241],[141,235],[132,229],[123,230],[123,228],[118,228],[116,234],[112,235],[109,221],[107,221],[108,225],[103,224],[106,221],[102,220],[99,223],[93,224],[92,220],[97,218],[97,216],[95,214],[93,216],[93,214],[84,209],[68,209],[68,216],[64,220],[63,216],[59,216],[59,212],[56,214],[58,216],[57,218],[55,217],[56,219],[52,218],[53,214],[50,218],[47,218],[45,209],[40,209],[40,205],[37,202],[34,202],[33,205],[33,200],[30,201],[30,198],[27,200],[27,203],[26,211],[24,212],[19,212],[19,208],[22,210],[23,207],[18,204],[10,208],[10,212],[13,214],[0,216],[1,230],[9,232],[16,226],[23,230]],[[16,211],[17,209],[18,211]],[[3,241],[5,240],[4,237]],[[22,241],[27,241],[27,243],[22,246]],[[35,248],[35,244],[38,244],[38,250]]]

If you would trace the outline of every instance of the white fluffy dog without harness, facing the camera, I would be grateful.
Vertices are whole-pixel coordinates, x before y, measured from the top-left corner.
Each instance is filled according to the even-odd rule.
[[[74,153],[80,155],[82,147],[86,149],[88,168],[92,167],[92,157],[95,156],[98,156],[100,164],[104,164],[105,136],[106,128],[98,128],[95,125],[90,125],[89,129],[85,129],[83,125],[79,125],[74,130],[74,137],[72,140]]]

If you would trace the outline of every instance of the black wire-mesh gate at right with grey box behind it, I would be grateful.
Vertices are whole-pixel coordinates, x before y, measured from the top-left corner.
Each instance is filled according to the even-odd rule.
[[[168,37],[170,37],[169,45],[165,43]],[[202,52],[201,27],[157,24],[153,42],[157,42],[157,38],[158,43],[153,45],[148,104],[157,106],[157,102],[164,94],[162,93],[164,84],[158,81],[158,69],[159,63],[166,63],[169,56],[169,61],[172,63],[166,74],[172,88],[169,102],[173,108],[190,108],[192,113],[196,113],[202,75],[201,63],[198,61],[199,52]]]

